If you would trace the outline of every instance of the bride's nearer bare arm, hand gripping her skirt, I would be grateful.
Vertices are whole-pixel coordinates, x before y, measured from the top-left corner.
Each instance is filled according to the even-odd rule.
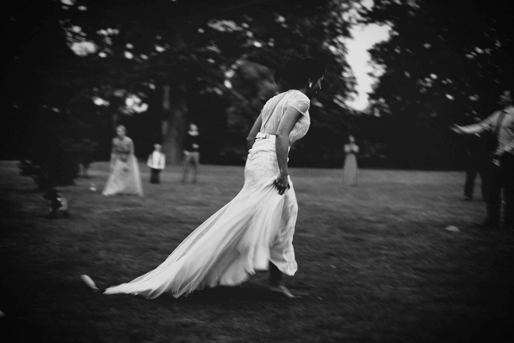
[[[289,152],[289,133],[295,127],[295,124],[300,120],[302,114],[289,106],[280,120],[277,133],[275,134],[275,151],[277,153],[277,162],[279,164],[280,175],[277,177],[276,185],[279,193],[283,194],[289,185],[287,178],[287,153]]]

